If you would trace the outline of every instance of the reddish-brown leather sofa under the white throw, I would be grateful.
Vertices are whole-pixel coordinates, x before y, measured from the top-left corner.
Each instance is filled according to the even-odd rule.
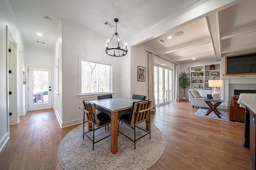
[[[240,107],[237,103],[239,95],[233,94],[229,102],[228,112],[230,121],[238,121],[244,123],[245,108]]]

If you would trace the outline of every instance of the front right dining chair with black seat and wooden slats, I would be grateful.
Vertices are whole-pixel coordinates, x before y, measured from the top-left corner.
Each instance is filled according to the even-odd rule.
[[[154,107],[151,107],[152,100],[144,100],[141,102],[133,102],[132,104],[132,110],[130,113],[121,115],[121,117],[118,120],[118,133],[122,133],[125,137],[130,139],[134,142],[134,149],[136,149],[136,141],[141,139],[142,137],[149,134],[150,139],[150,110],[154,109]],[[127,135],[125,135],[123,132],[119,131],[119,125],[120,121],[134,129],[134,139],[131,139]],[[142,123],[142,122],[148,122],[149,123],[149,131],[146,131],[136,125]],[[145,135],[139,137],[136,139],[136,128],[139,128],[146,132]]]

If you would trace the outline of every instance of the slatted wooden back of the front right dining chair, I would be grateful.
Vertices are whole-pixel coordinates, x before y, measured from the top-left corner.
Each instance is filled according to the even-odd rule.
[[[150,115],[150,110],[153,109],[153,107],[150,107],[151,103],[152,103],[152,100],[134,102],[134,105],[132,108],[132,119],[131,119],[130,126],[134,126],[134,123],[135,125],[138,125],[148,120],[148,116]]]

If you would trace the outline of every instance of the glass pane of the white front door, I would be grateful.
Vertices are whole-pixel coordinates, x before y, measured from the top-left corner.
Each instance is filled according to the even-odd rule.
[[[33,104],[48,103],[48,71],[32,72]]]

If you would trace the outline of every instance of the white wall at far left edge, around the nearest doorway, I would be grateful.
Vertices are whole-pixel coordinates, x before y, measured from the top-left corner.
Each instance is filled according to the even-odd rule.
[[[8,10],[9,9],[9,10]],[[24,41],[16,27],[16,22],[12,18],[13,12],[10,8],[9,1],[0,1],[0,151],[4,147],[5,143],[9,139],[9,121],[7,110],[7,96],[8,91],[7,83],[7,67],[6,67],[6,25],[8,25],[8,31],[11,33],[14,40],[19,44],[19,49],[25,52]],[[19,70],[20,71],[20,70]],[[20,74],[20,72],[18,72]],[[21,101],[21,106],[22,106]]]

